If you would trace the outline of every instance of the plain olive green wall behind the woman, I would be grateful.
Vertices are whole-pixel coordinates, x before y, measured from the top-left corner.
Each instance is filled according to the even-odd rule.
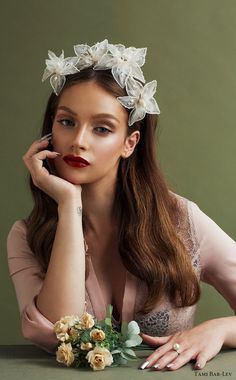
[[[158,153],[172,188],[236,238],[236,1],[24,0],[2,5],[0,343],[24,343],[6,261],[6,236],[32,207],[22,156],[38,138],[49,83],[47,50],[108,38],[148,47],[144,73],[158,82]],[[197,320],[231,315],[204,286]]]

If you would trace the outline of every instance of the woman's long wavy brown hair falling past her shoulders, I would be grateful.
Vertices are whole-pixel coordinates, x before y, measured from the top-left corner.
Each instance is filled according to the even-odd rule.
[[[94,81],[115,97],[127,95],[110,70],[92,68],[68,75],[63,90],[82,81]],[[42,136],[52,131],[59,99],[60,95],[52,93],[48,100]],[[181,208],[156,159],[156,127],[156,115],[147,114],[127,128],[127,135],[139,130],[140,141],[133,154],[119,162],[114,201],[122,262],[148,288],[140,310],[143,313],[150,312],[163,294],[178,307],[193,305],[200,296],[190,253],[177,234]],[[50,170],[47,163],[45,166]],[[26,219],[27,241],[46,273],[57,228],[57,204],[33,184],[31,177],[30,188],[34,207]]]

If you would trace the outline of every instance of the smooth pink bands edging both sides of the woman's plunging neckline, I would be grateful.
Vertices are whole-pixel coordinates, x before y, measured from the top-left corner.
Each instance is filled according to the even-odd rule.
[[[92,303],[94,314],[96,319],[102,320],[106,316],[107,305],[105,304],[103,294],[93,267],[92,259],[90,255],[86,256],[89,264],[89,274],[86,279],[86,289]],[[137,292],[137,277],[132,275],[126,269],[125,286],[123,293],[122,309],[120,311],[119,320],[115,319],[112,315],[112,319],[115,324],[121,324],[122,322],[130,322],[134,319],[134,308]]]

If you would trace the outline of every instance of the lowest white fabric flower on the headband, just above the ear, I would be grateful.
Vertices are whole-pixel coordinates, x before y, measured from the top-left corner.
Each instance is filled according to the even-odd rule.
[[[133,108],[129,114],[129,126],[138,120],[142,120],[146,113],[160,114],[160,109],[153,97],[156,92],[156,86],[156,80],[143,86],[133,78],[128,79],[126,84],[128,96],[119,96],[117,99],[124,107]]]

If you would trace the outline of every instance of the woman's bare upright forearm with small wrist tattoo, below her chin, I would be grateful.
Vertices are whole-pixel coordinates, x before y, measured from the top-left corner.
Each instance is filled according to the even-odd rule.
[[[80,201],[58,206],[58,225],[50,263],[37,298],[39,311],[52,323],[81,315],[85,303],[85,252]]]

